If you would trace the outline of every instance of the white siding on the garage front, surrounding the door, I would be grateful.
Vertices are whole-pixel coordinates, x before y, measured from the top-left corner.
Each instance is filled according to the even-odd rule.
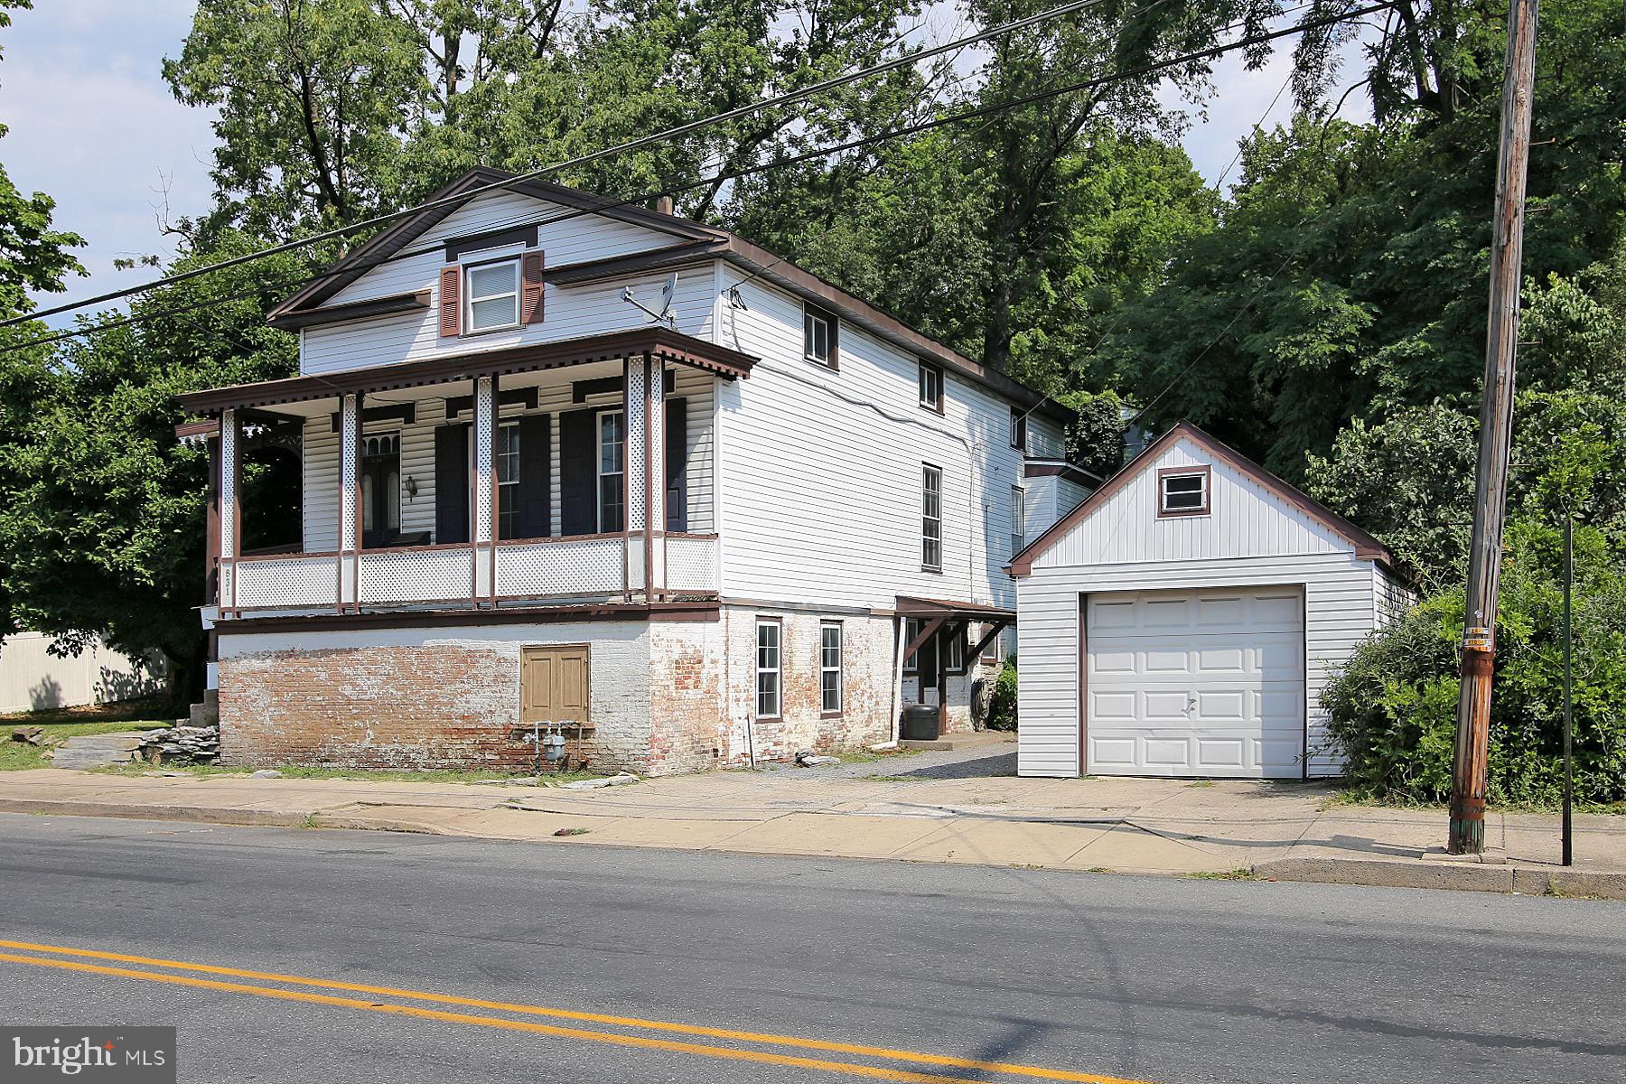
[[[1211,463],[1211,514],[1158,518],[1158,470]],[[1320,694],[1374,627],[1371,559],[1315,517],[1190,440],[1145,463],[1101,507],[1055,540],[1018,582],[1016,655],[1021,775],[1078,775],[1080,600],[1085,595],[1208,587],[1304,590],[1307,774],[1337,775]]]

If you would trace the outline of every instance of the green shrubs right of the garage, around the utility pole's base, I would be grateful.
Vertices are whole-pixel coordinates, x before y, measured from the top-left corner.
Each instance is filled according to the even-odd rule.
[[[1491,689],[1491,800],[1556,803],[1563,787],[1563,540],[1507,531]],[[1450,793],[1463,592],[1423,600],[1374,634],[1322,694],[1346,775],[1376,798]],[[1602,531],[1576,531],[1576,796],[1626,800],[1626,561]]]

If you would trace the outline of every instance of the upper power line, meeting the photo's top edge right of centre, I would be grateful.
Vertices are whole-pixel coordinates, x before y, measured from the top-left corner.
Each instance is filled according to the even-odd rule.
[[[111,293],[106,293],[106,294],[99,294],[96,297],[86,297],[83,301],[60,304],[60,306],[55,306],[54,309],[42,309],[42,310],[37,310],[37,312],[31,312],[28,315],[20,315],[20,317],[11,317],[11,319],[7,319],[7,320],[0,320],[0,328],[11,327],[15,323],[24,323],[28,320],[41,320],[41,319],[46,319],[46,317],[60,315],[63,312],[73,312],[76,309],[86,309],[89,306],[98,306],[98,304],[104,304],[104,302],[109,302],[109,301],[119,301],[122,297],[128,297],[130,294],[145,293],[148,289],[156,289],[159,286],[169,286],[169,284],[174,284],[174,283],[179,283],[179,281],[185,281],[189,278],[197,278],[198,275],[207,275],[210,271],[220,271],[220,270],[224,270],[228,267],[239,267],[242,263],[249,263],[252,260],[259,260],[259,258],[263,258],[263,257],[268,257],[268,255],[278,255],[278,254],[283,254],[283,252],[293,252],[296,249],[304,249],[307,245],[314,245],[314,244],[319,244],[319,242],[324,242],[324,241],[333,241],[337,237],[348,237],[350,234],[356,234],[356,232],[361,232],[364,229],[374,229],[377,226],[389,226],[390,223],[402,221],[403,218],[411,218],[413,215],[418,215],[421,211],[436,210],[436,208],[441,208],[441,206],[457,206],[457,205],[462,205],[462,203],[468,202],[470,198],[485,195],[488,192],[498,192],[498,190],[502,190],[502,189],[509,189],[512,185],[524,184],[527,180],[540,180],[541,177],[561,172],[564,169],[574,169],[577,166],[585,166],[589,163],[595,163],[595,161],[600,161],[600,159],[605,159],[605,158],[610,158],[610,156],[615,156],[615,154],[624,154],[628,151],[636,151],[639,148],[649,146],[652,143],[659,143],[662,140],[675,140],[678,137],[689,135],[691,132],[699,132],[701,128],[707,128],[711,125],[725,124],[728,120],[740,120],[741,117],[750,117],[753,114],[763,112],[764,109],[776,109],[779,106],[789,106],[789,104],[798,102],[798,101],[802,101],[805,98],[811,98],[813,94],[818,94],[818,93],[823,93],[823,91],[828,91],[828,89],[834,89],[837,86],[846,86],[847,83],[854,83],[857,80],[868,78],[872,75],[883,75],[886,72],[894,72],[894,70],[902,68],[902,67],[911,67],[911,65],[915,65],[915,63],[919,63],[922,60],[930,60],[932,57],[938,57],[938,55],[943,55],[946,52],[953,52],[956,49],[966,49],[967,46],[976,46],[979,42],[990,41],[993,37],[1000,37],[1003,34],[1010,34],[1010,33],[1018,31],[1018,29],[1024,29],[1028,26],[1036,26],[1039,23],[1047,23],[1047,21],[1060,18],[1063,15],[1073,15],[1075,11],[1083,11],[1086,8],[1099,7],[1099,5],[1106,3],[1106,2],[1107,0],[1072,0],[1070,3],[1062,3],[1059,7],[1049,8],[1047,11],[1041,11],[1037,15],[1031,15],[1031,16],[1026,16],[1026,18],[1021,18],[1021,20],[1011,20],[1010,23],[1002,23],[1000,26],[993,26],[990,29],[980,31],[977,34],[971,34],[967,37],[961,37],[961,39],[956,39],[956,41],[951,41],[951,42],[945,42],[941,46],[933,46],[930,49],[922,49],[919,52],[911,52],[911,54],[907,54],[904,57],[896,57],[893,60],[886,60],[883,63],[876,63],[876,65],[872,65],[868,68],[860,68],[857,72],[846,72],[842,75],[836,75],[836,76],[831,76],[828,80],[821,80],[820,83],[813,83],[811,86],[805,86],[805,88],[802,88],[798,91],[789,91],[789,93],[779,94],[776,98],[767,98],[767,99],[763,99],[763,101],[754,102],[751,106],[740,106],[737,109],[730,109],[727,112],[714,114],[711,117],[701,117],[699,120],[689,120],[686,124],[680,124],[680,125],[667,128],[663,132],[654,132],[650,135],[641,135],[641,137],[637,137],[634,140],[626,140],[623,143],[616,143],[615,146],[606,146],[603,150],[590,151],[587,154],[577,154],[576,158],[567,158],[567,159],[564,159],[561,163],[553,163],[551,166],[543,166],[540,169],[533,169],[530,172],[524,172],[524,174],[519,174],[515,177],[506,177],[502,180],[496,180],[496,182],[488,184],[488,185],[480,185],[476,189],[470,189],[468,192],[459,192],[457,195],[447,195],[447,197],[441,197],[437,200],[428,200],[424,203],[415,205],[415,206],[403,208],[400,211],[390,211],[389,215],[374,215],[372,218],[363,219],[359,223],[351,223],[350,226],[337,226],[333,229],[325,229],[325,231],[311,234],[309,237],[299,237],[296,241],[285,241],[281,244],[270,245],[270,247],[262,249],[259,252],[244,254],[241,257],[233,257],[229,260],[220,260],[220,262],[210,263],[207,267],[197,267],[197,268],[192,268],[189,271],[180,271],[179,275],[167,275],[164,278],[158,278],[158,280],[153,280],[150,283],[143,283],[143,284],[138,284],[138,286],[128,286],[125,289],[115,289],[115,291],[111,291]],[[1382,7],[1392,7],[1392,5],[1385,3]]]

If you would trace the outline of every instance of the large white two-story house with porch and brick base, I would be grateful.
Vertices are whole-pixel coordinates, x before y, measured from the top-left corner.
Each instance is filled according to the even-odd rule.
[[[501,187],[494,187],[499,185]],[[476,169],[272,314],[213,449],[228,762],[642,772],[967,726],[1072,414],[720,229]],[[244,463],[257,463],[244,488]]]

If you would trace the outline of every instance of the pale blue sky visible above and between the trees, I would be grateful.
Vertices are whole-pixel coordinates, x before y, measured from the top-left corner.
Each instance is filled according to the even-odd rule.
[[[208,205],[211,115],[179,104],[161,72],[164,55],[180,50],[192,10],[193,0],[36,0],[36,10],[16,11],[5,33],[0,122],[10,133],[0,140],[0,163],[24,192],[50,193],[57,224],[88,241],[80,258],[91,276],[68,284],[72,297],[150,278],[151,268],[119,271],[112,263],[171,255],[159,229],[166,206],[174,219]],[[930,31],[951,39],[963,24],[943,15]],[[1286,72],[1285,57],[1260,72],[1242,70],[1234,55],[1221,60],[1218,96],[1184,140],[1210,182],[1265,114]],[[1272,119],[1288,109],[1283,96]],[[1345,115],[1364,119],[1364,109],[1356,94]]]

